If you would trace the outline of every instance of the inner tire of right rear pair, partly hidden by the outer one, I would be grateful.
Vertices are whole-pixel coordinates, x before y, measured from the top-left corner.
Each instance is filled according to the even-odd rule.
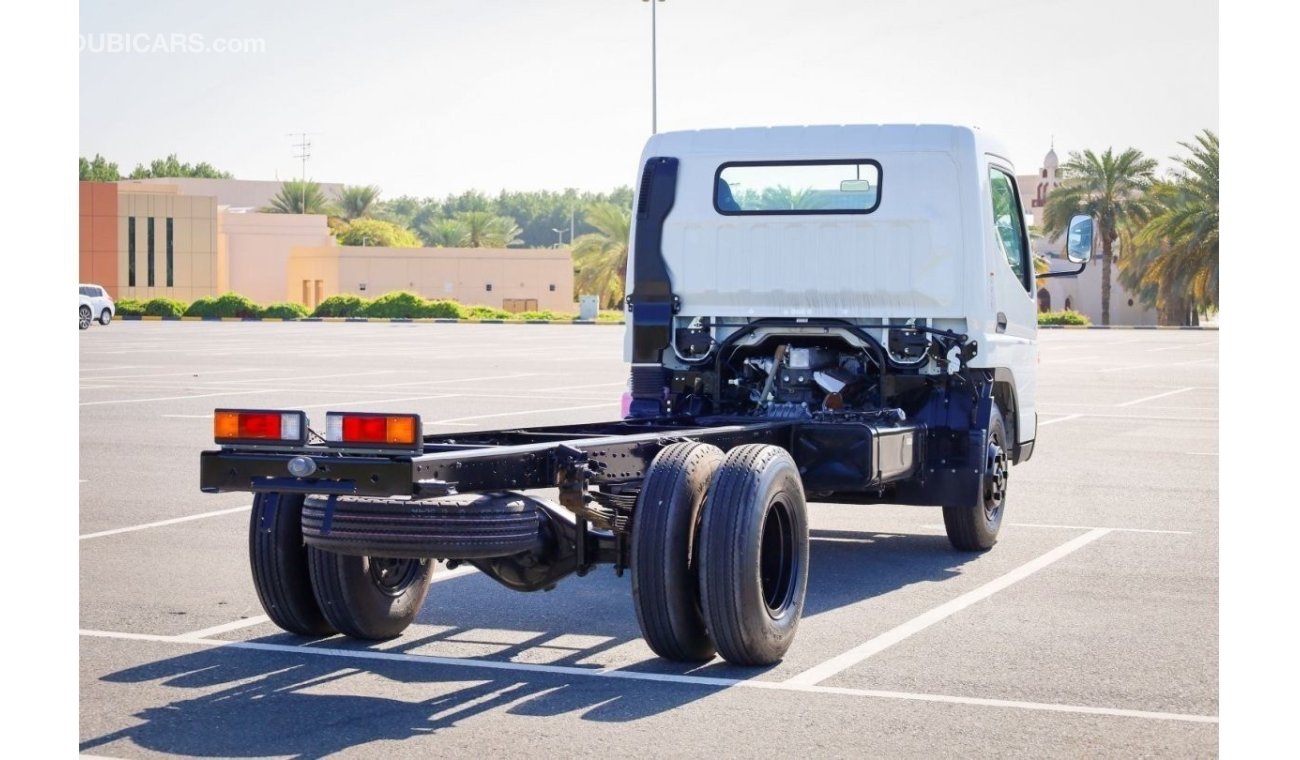
[[[632,600],[646,643],[660,657],[703,663],[714,656],[699,604],[696,527],[723,452],[673,443],[650,462],[632,513]]]

